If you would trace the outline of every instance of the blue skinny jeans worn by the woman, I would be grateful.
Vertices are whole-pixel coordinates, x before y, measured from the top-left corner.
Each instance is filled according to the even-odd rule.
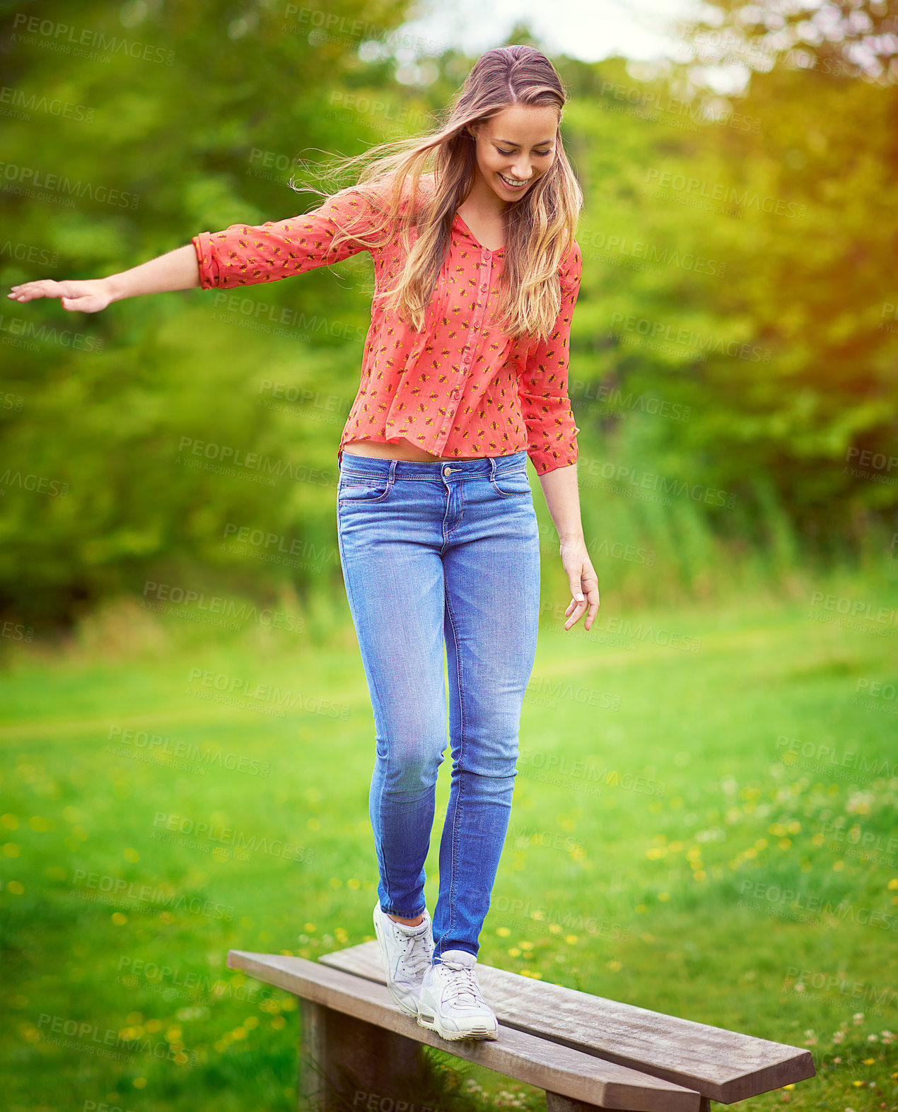
[[[375,725],[369,813],[381,907],[424,910],[436,774],[434,963],[476,956],[509,830],[524,691],[536,654],[540,535],[526,453],[409,463],[341,457],[337,535]]]

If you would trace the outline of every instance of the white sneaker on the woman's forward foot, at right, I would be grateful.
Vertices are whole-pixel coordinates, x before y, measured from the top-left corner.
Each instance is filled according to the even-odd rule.
[[[443,1039],[499,1039],[499,1021],[483,999],[466,950],[444,950],[442,961],[424,974],[417,1021]]]

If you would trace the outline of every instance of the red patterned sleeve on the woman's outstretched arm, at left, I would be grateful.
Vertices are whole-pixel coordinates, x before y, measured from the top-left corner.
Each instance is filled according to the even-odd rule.
[[[314,267],[341,262],[369,248],[356,238],[332,248],[339,228],[359,236],[375,219],[374,209],[362,193],[344,190],[304,216],[257,226],[233,224],[224,231],[201,231],[191,239],[200,288],[233,289],[278,281]]]

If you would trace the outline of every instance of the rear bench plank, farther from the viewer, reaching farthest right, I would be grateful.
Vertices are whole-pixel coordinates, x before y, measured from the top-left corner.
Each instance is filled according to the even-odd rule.
[[[319,963],[386,983],[377,942],[323,954]],[[477,980],[500,1023],[673,1081],[723,1104],[816,1075],[810,1051],[787,1043],[651,1012],[481,962]]]

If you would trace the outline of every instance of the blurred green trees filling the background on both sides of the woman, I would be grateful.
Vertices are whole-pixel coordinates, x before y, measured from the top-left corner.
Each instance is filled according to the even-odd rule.
[[[369,49],[404,2],[328,3],[322,28],[316,11],[90,0],[76,21],[45,4],[51,28],[73,28],[60,36],[10,10],[4,290],[308,210],[292,175],[426,129],[473,61],[446,51],[425,62],[434,80],[405,85]],[[85,34],[99,57],[60,49]],[[746,560],[781,575],[881,554],[898,506],[898,91],[782,57],[744,96],[687,102],[675,69],[556,64],[585,193],[570,386],[584,522],[663,572],[600,562],[603,585],[707,594]],[[83,188],[70,206],[22,168]],[[371,291],[362,255],[96,316],[7,301],[0,606],[46,633],[148,580],[263,600],[339,590],[336,446]],[[225,457],[261,463],[228,474]],[[238,552],[235,526],[277,539]]]

